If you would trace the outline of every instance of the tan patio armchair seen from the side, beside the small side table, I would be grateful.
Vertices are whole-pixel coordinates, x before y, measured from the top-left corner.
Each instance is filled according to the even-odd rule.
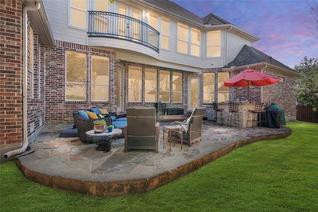
[[[183,122],[175,121],[171,123],[171,125],[178,124],[182,127],[183,143],[188,143],[189,146],[191,146],[191,144],[195,141],[202,141],[202,125],[205,110],[205,107],[194,108],[191,116],[188,119],[184,120]],[[176,138],[171,139],[174,139],[175,141],[181,141],[180,138],[181,136],[179,135]],[[168,137],[168,140],[169,139],[170,138]]]

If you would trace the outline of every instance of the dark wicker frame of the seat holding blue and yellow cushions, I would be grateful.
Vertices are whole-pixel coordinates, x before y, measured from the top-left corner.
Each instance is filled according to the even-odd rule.
[[[111,118],[101,118],[101,119],[84,119],[79,116],[78,113],[73,113],[74,124],[78,129],[79,139],[84,143],[92,143],[91,139],[86,137],[86,132],[94,129],[93,121],[104,119],[107,125],[112,124]]]

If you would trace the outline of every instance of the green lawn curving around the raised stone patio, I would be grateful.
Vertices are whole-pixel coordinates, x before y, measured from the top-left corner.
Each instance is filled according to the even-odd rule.
[[[0,164],[0,208],[8,212],[317,212],[318,124],[288,122],[292,135],[241,147],[141,195],[91,197],[26,179]]]

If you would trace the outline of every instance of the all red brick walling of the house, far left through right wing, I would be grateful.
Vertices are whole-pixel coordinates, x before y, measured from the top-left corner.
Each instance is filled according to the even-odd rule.
[[[154,107],[154,103],[147,103],[142,100],[140,103],[128,102],[128,67],[142,67],[170,71],[164,67],[149,66],[128,61],[118,61],[115,59],[115,52],[93,49],[74,43],[55,41],[55,47],[44,46],[39,42],[39,37],[34,31],[33,42],[33,93],[31,93],[31,80],[27,81],[27,129],[23,129],[22,123],[22,3],[21,0],[0,0],[1,22],[0,22],[0,147],[1,158],[6,151],[19,148],[23,141],[23,130],[27,130],[29,143],[39,135],[44,126],[54,124],[73,124],[72,112],[79,109],[89,109],[92,107],[106,108],[116,111],[117,108],[117,66],[124,70],[124,108],[130,107]],[[30,24],[27,26],[28,33]],[[29,45],[29,42],[28,44]],[[30,47],[28,46],[28,51]],[[87,100],[66,101],[66,50],[79,51],[86,54],[87,60]],[[92,55],[101,55],[109,58],[110,64],[110,87],[109,102],[91,101],[90,97],[90,72],[89,62]],[[30,52],[28,53],[28,56]],[[28,58],[29,61],[29,58]],[[253,69],[261,71],[262,67]],[[221,68],[203,69],[202,73],[182,72],[182,102],[172,103],[172,93],[170,92],[170,102],[168,108],[184,108],[186,112],[188,102],[188,76],[197,75],[201,77],[201,90],[203,91],[203,72],[215,72],[215,90],[217,90],[217,73]],[[263,70],[265,73],[284,78],[283,82],[263,87],[250,87],[249,100],[262,101],[266,103],[276,103],[285,111],[286,121],[288,117],[296,118],[296,86],[295,76],[285,74],[270,68]],[[235,71],[231,74],[237,74]],[[232,77],[233,75],[230,75]],[[159,76],[159,74],[158,74]],[[159,79],[158,79],[159,80]],[[89,85],[89,86],[88,86]],[[247,99],[246,88],[230,88],[230,100]],[[261,99],[262,96],[262,99]],[[215,96],[217,99],[217,93]],[[201,95],[201,101],[203,97]],[[202,104],[202,102],[201,102]],[[15,144],[15,146],[10,146]],[[9,147],[8,147],[9,146]]]

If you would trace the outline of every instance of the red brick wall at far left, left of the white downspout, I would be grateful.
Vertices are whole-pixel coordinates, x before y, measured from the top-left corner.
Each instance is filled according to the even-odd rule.
[[[21,1],[1,0],[0,10],[0,148],[3,155],[22,142]]]

